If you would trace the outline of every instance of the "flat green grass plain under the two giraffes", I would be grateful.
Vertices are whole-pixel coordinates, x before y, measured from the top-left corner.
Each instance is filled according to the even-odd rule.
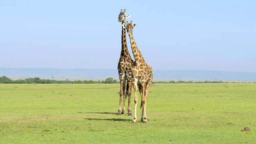
[[[154,84],[148,124],[116,115],[119,87],[0,84],[0,144],[255,143],[256,84]]]

